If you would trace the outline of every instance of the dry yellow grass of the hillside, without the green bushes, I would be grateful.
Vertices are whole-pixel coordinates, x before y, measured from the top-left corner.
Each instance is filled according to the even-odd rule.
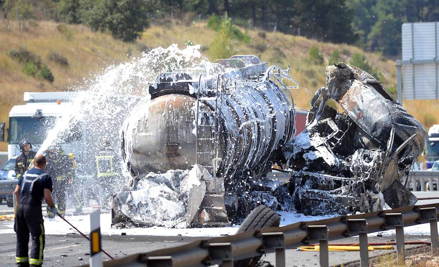
[[[167,47],[177,43],[183,47],[187,41],[201,45],[201,54],[208,55],[209,47],[216,32],[206,27],[205,21],[156,21],[146,29],[142,38],[134,43],[115,40],[110,34],[92,32],[83,25],[63,25],[51,21],[29,23],[26,31],[20,31],[11,21],[11,30],[0,31],[0,122],[8,121],[13,105],[23,103],[25,91],[62,91],[72,84],[80,84],[102,71],[108,65],[129,60],[129,55],[137,54],[145,48]],[[61,30],[60,30],[61,28]],[[300,36],[282,33],[249,30],[250,43],[232,40],[234,54],[254,54],[269,65],[276,64],[290,68],[290,74],[299,81],[301,87],[293,92],[295,103],[308,108],[315,91],[325,85],[324,68],[335,50],[340,60],[350,62],[355,53],[365,54],[367,61],[376,66],[384,78],[384,86],[396,88],[396,68],[393,60],[374,53],[364,53],[355,46],[323,43]],[[325,63],[316,64],[309,60],[309,51],[317,46]],[[39,55],[52,70],[55,81],[46,82],[38,77],[30,77],[23,72],[23,65],[12,60],[8,53],[12,49],[25,47]],[[58,53],[68,60],[65,67],[52,62],[48,56]],[[211,61],[215,59],[210,59]],[[439,101],[404,101],[405,108],[425,127],[438,123]],[[6,143],[0,150],[6,150]]]

